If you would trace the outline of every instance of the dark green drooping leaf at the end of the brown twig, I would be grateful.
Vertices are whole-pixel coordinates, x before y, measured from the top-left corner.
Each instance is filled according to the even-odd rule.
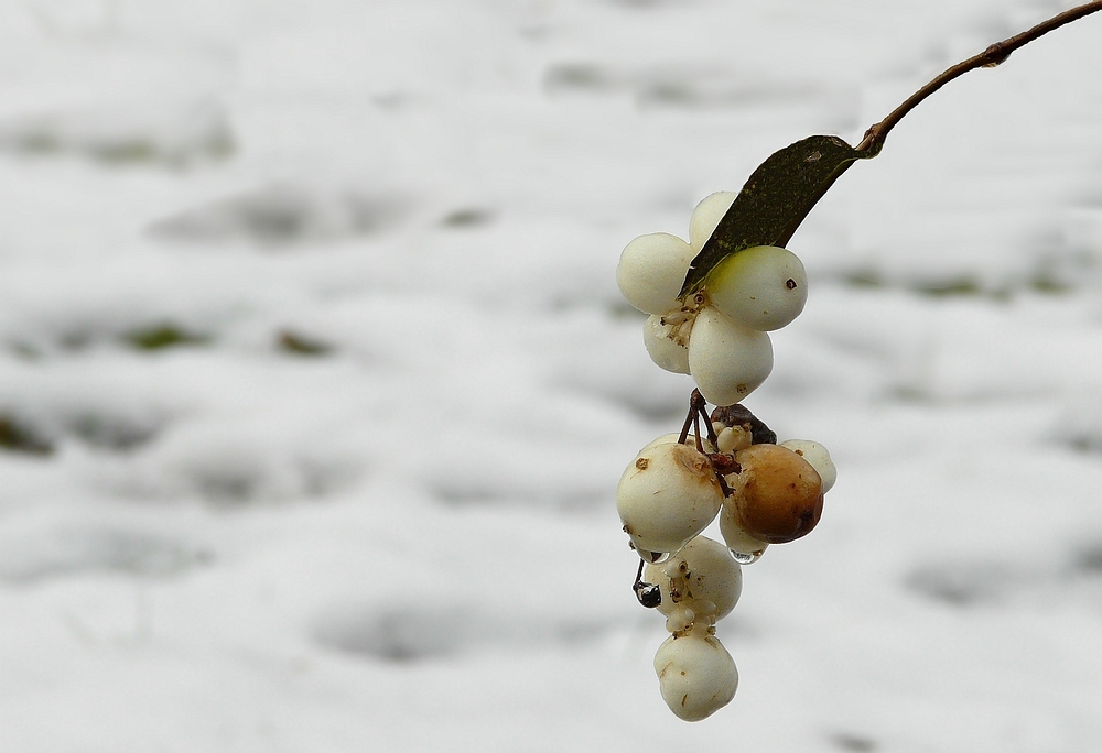
[[[775,152],[754,171],[692,260],[681,295],[699,290],[707,273],[732,253],[785,245],[838,176],[878,151],[858,152],[838,137],[815,135]]]

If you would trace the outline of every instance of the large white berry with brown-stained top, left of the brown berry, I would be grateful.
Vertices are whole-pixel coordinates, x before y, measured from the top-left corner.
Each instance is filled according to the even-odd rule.
[[[616,488],[624,531],[642,552],[677,552],[707,527],[722,502],[707,456],[677,443],[639,452]]]

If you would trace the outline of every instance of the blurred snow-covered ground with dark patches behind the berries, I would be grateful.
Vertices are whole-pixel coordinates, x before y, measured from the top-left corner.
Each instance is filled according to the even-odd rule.
[[[747,401],[831,448],[666,709],[613,271],[1068,3],[0,2],[0,751],[1102,747],[1102,15],[790,248]]]

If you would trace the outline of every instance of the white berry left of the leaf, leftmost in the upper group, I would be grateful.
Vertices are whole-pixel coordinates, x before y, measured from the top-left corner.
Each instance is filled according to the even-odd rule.
[[[689,273],[693,251],[667,232],[639,236],[620,253],[616,284],[627,302],[647,314],[681,308],[678,294]]]

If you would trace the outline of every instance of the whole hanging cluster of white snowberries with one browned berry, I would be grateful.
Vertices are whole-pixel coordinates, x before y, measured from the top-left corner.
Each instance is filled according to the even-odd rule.
[[[681,433],[644,447],[616,491],[624,531],[642,560],[636,596],[666,616],[671,633],[655,656],[662,698],[687,721],[725,706],[738,685],[715,622],[738,601],[742,566],[770,544],[807,535],[835,479],[822,445],[777,444],[738,404],[773,369],[766,332],[803,309],[799,259],[776,247],[745,249],[721,261],[688,301],[679,298],[690,262],[734,197],[701,201],[688,243],[666,233],[635,239],[616,271],[628,303],[651,315],[644,335],[651,359],[692,375],[698,388]],[[707,414],[705,401],[721,407]],[[701,535],[716,519],[723,544]]]

